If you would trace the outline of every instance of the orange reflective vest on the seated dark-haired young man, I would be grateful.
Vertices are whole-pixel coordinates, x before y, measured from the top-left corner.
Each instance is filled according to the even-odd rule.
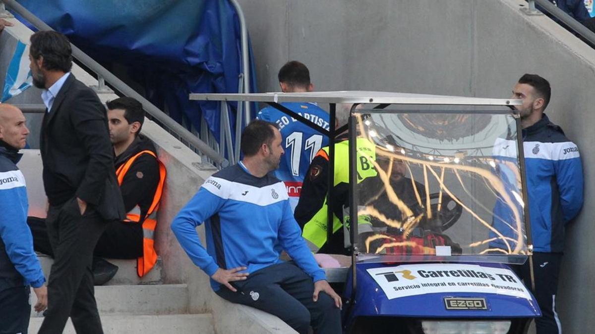
[[[124,180],[124,175],[130,169],[130,166],[136,160],[137,157],[143,154],[149,154],[157,158],[154,152],[149,150],[144,150],[136,155],[130,157],[123,165],[121,165],[118,170],[115,172],[118,178],[118,185],[122,185],[122,181]],[[153,197],[153,201],[151,203],[151,207],[149,207],[149,211],[146,213],[145,220],[143,220],[143,256],[139,257],[136,260],[136,273],[139,277],[145,276],[146,273],[151,271],[151,269],[155,266],[157,262],[157,253],[155,251],[155,226],[157,225],[156,218],[156,210],[159,207],[159,201],[161,201],[161,194],[163,193],[163,184],[165,182],[165,166],[159,159],[157,159],[159,163],[159,184],[157,185],[157,189],[155,190],[155,196]],[[129,213],[126,214],[126,222],[140,222],[140,208],[139,206],[134,207],[134,209],[130,210]]]

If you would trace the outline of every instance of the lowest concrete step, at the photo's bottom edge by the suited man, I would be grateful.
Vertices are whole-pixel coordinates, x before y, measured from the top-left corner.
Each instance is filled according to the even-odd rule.
[[[31,318],[29,333],[37,333],[43,318]],[[211,314],[175,314],[165,316],[121,316],[101,315],[105,334],[209,334],[214,333]],[[64,329],[65,334],[74,334],[70,319]]]

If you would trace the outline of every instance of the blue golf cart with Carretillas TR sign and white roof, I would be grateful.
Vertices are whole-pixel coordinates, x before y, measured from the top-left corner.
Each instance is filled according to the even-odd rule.
[[[326,269],[342,283],[345,333],[525,333],[541,315],[509,267],[532,252],[512,108],[519,100],[387,92],[190,99],[264,102],[331,138],[347,128],[324,130],[281,103],[329,103],[330,124],[336,103],[352,105],[345,224],[327,224],[327,238],[339,228],[349,236],[350,266]],[[329,153],[333,184],[333,145]],[[374,177],[364,179],[364,169]],[[327,203],[330,210],[333,194]]]

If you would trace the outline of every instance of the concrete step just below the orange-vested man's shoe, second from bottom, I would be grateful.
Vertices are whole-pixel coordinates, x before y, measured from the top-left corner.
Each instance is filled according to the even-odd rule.
[[[185,314],[189,303],[186,284],[95,286],[95,300],[101,315]],[[31,316],[41,314],[32,309]]]

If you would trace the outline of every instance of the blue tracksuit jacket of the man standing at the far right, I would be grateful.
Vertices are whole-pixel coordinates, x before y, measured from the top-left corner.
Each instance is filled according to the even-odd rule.
[[[536,124],[522,131],[525,153],[525,175],[529,215],[531,219],[531,239],[534,251],[559,253],[564,248],[565,223],[574,218],[583,206],[583,166],[575,143],[566,138],[558,125],[549,121],[544,114]],[[516,144],[504,143],[494,146],[496,156],[506,159],[504,148],[516,156]],[[498,149],[498,147],[500,149]],[[516,181],[511,175],[500,172],[500,177],[508,184],[509,197],[516,190]],[[494,207],[494,228],[506,237],[516,239],[512,232],[513,210],[522,213],[520,205],[507,206],[502,200]],[[494,237],[494,234],[490,235]],[[505,248],[501,240],[490,245]],[[513,243],[511,244],[513,247]]]

